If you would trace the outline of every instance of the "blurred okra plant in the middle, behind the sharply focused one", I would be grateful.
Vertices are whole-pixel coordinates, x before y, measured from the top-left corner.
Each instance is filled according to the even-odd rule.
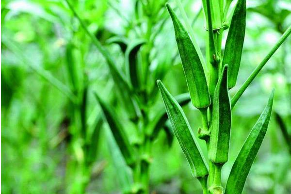
[[[165,0],[134,1],[135,16],[132,21],[127,21],[126,27],[132,30],[123,35],[113,36],[106,41],[108,45],[116,44],[120,47],[124,57],[122,68],[118,68],[117,60],[89,31],[70,1],[66,0],[66,2],[83,30],[105,58],[114,82],[116,93],[112,94],[116,104],[113,104],[108,97],[105,100],[99,91],[95,92],[95,97],[103,114],[103,120],[110,129],[110,133],[106,132],[109,148],[117,148],[121,153],[118,154],[118,150],[111,150],[115,157],[113,161],[124,161],[115,165],[118,168],[116,170],[121,174],[118,178],[122,185],[122,192],[149,193],[152,144],[161,129],[164,129],[167,135],[173,136],[165,126],[167,121],[165,110],[163,107],[158,107],[154,99],[158,95],[155,81],[165,76],[167,70],[164,66],[171,64],[174,59],[168,62],[163,61],[155,70],[150,68],[153,60],[158,57],[158,53],[153,51],[156,36],[167,19],[167,11],[163,7]],[[111,6],[114,7],[114,5]],[[118,12],[118,14],[124,17],[122,13]],[[182,106],[190,101],[190,96],[182,94],[177,96],[176,100]],[[116,111],[119,106],[122,109],[122,111],[119,110],[121,114]]]

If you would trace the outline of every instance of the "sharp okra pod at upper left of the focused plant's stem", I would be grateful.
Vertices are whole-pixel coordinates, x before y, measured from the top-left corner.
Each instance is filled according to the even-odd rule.
[[[166,7],[173,21],[178,50],[184,69],[191,101],[196,108],[210,105],[210,96],[206,77],[197,51],[178,17],[169,4]]]

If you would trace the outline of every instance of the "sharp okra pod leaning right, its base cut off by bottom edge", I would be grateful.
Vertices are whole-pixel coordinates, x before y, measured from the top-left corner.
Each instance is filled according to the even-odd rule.
[[[244,142],[242,149],[236,158],[226,183],[225,194],[241,194],[245,180],[249,174],[251,166],[262,144],[271,117],[274,99],[274,89],[269,97],[269,101],[264,111],[249,136]]]

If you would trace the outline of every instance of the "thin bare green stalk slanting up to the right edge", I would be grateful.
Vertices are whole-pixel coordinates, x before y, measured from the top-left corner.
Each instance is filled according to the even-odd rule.
[[[256,69],[251,73],[251,75],[248,77],[248,79],[242,84],[242,87],[237,91],[237,93],[234,95],[234,97],[231,98],[231,108],[235,106],[239,98],[242,96],[243,92],[246,90],[246,88],[250,85],[250,83],[256,78],[259,71],[266,65],[266,63],[269,61],[269,59],[273,56],[275,51],[282,45],[282,43],[286,40],[286,38],[291,33],[291,26],[284,32],[284,34],[281,36],[281,38],[278,40],[278,42],[275,44],[275,46],[270,50],[270,52],[267,54],[267,56],[263,59],[263,61],[256,67]]]

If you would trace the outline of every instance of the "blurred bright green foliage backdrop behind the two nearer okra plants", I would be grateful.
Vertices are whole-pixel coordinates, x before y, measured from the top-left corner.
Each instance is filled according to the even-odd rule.
[[[145,21],[136,20],[134,12],[136,0],[70,2],[73,2],[90,32],[110,50],[116,66],[123,69],[122,51],[117,45],[109,44],[108,40],[115,35],[126,36],[130,40],[138,37],[136,34],[143,30]],[[152,3],[152,10],[147,10],[149,13],[165,10],[164,0],[152,0]],[[201,2],[183,0],[182,3],[188,17],[194,20],[197,42],[205,53],[206,31]],[[242,64],[237,86],[231,90],[232,95],[291,25],[289,0],[247,0],[247,8]],[[186,81],[170,18],[165,13],[152,20],[156,27],[151,32],[155,39],[150,43],[150,69],[161,68],[158,72],[163,72],[165,77],[162,74],[155,76],[163,79],[173,95],[185,93]],[[120,192],[123,183],[118,178],[122,174],[118,165],[122,162],[116,162],[114,157],[120,153],[115,150],[116,145],[108,143],[111,137],[106,132],[107,125],[98,123],[96,119],[100,110],[93,95],[93,92],[98,92],[104,99],[111,98],[115,93],[113,79],[104,58],[73,17],[65,0],[1,1],[1,24],[1,193],[80,193],[76,188],[81,187],[82,182],[85,182],[83,191],[88,194]],[[291,141],[283,135],[284,131],[291,134],[290,61],[289,37],[234,109],[230,162],[223,169],[224,182],[271,89],[275,88],[270,127],[248,176],[245,194],[291,193]],[[72,70],[77,78],[74,81],[67,73],[70,63],[81,69]],[[153,79],[153,87],[154,84]],[[89,87],[85,87],[87,85]],[[70,90],[64,92],[67,88]],[[85,123],[96,145],[91,161],[86,163],[90,168],[85,170],[84,165],[76,165],[76,161],[83,160],[84,153],[78,138],[81,134],[74,129],[82,124],[70,119],[74,116],[70,91],[83,94],[78,91],[79,88],[88,88]],[[162,104],[159,95],[153,101]],[[118,103],[116,110],[123,115]],[[191,104],[184,110],[196,131],[201,125],[198,111]],[[100,129],[95,130],[97,128]],[[152,148],[151,192],[199,193],[198,181],[192,178],[176,139],[171,147],[166,141],[167,135],[162,131]],[[199,143],[205,149],[203,142],[199,140]],[[86,176],[84,172],[87,172]]]

